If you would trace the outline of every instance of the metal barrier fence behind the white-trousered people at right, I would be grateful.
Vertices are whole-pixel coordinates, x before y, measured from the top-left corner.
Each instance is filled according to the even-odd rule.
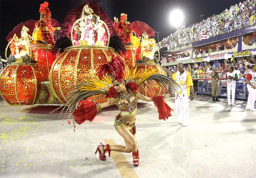
[[[245,79],[240,79],[236,83],[236,93],[235,98],[241,100],[247,100],[248,90],[246,87]],[[227,98],[227,80],[220,80],[220,91],[219,97]],[[201,95],[211,95],[211,80],[198,80],[197,84],[197,94]]]

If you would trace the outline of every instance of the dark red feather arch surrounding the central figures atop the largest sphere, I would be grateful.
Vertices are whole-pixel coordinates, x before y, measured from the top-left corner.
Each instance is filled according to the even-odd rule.
[[[100,17],[108,26],[110,36],[115,33],[113,22],[110,20],[106,12],[99,6],[98,0],[84,1],[79,4],[76,8],[72,9],[65,17],[64,22],[61,24],[61,32],[64,36],[70,38],[71,29],[77,19],[81,17],[83,7],[88,4],[93,9],[94,13]]]

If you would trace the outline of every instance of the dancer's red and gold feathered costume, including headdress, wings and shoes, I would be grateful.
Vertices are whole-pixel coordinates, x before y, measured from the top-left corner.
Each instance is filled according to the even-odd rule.
[[[182,95],[180,86],[173,79],[162,74],[154,74],[154,72],[155,69],[140,71],[133,69],[132,71],[125,72],[124,61],[119,56],[113,56],[111,62],[103,64],[98,68],[97,75],[99,78],[93,78],[87,83],[77,85],[70,92],[71,94],[68,96],[67,104],[65,105],[68,106],[68,109],[65,112],[64,119],[67,118],[70,124],[69,119],[73,118],[75,131],[75,122],[78,124],[82,124],[86,120],[91,122],[101,109],[101,104],[94,102],[95,100],[87,101],[85,99],[94,95],[99,95],[98,98],[107,96],[108,98],[115,98],[115,105],[120,109],[120,113],[114,120],[114,127],[117,130],[122,128],[132,129],[133,134],[135,134],[135,115],[138,103],[137,94],[138,88],[142,89],[143,87],[142,83],[146,84],[146,81],[155,80],[166,90],[171,91],[171,88],[175,88]],[[114,86],[112,86],[113,83],[117,82],[119,84],[127,83],[125,85],[127,88],[126,95],[123,95],[121,92],[118,93]],[[153,91],[151,92],[154,93]],[[130,101],[131,96],[134,97],[133,101]],[[171,116],[170,111],[172,109],[165,103],[163,96],[153,96],[152,99],[158,108],[159,119],[168,119]],[[77,103],[79,105],[75,109]],[[64,109],[61,113],[63,111]],[[106,160],[105,153],[108,152],[110,156],[110,151],[110,145],[99,145],[95,154],[99,152],[99,159],[104,161]],[[139,151],[132,152],[132,155],[133,165],[139,166]]]

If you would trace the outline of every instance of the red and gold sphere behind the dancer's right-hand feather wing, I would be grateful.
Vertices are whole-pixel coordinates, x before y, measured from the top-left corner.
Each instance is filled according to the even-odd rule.
[[[163,70],[163,68],[157,64],[157,63],[139,63],[139,64],[136,64],[135,67],[137,68],[137,71],[139,70],[146,70],[146,69],[157,69],[157,73],[161,73],[163,75],[166,75],[165,71]],[[143,84],[144,85],[144,84]],[[163,90],[161,88],[161,86],[154,80],[150,81],[150,82],[147,82],[147,85],[151,88],[151,90],[154,92],[154,95],[162,95],[165,90]],[[150,89],[144,85],[143,89],[139,89],[139,92],[142,94],[142,95],[145,95],[145,96],[153,96]]]

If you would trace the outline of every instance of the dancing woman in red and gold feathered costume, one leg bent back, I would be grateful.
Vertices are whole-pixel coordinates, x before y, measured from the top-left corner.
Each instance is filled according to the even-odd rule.
[[[69,118],[71,113],[74,115],[73,123],[82,124],[84,121],[92,121],[102,108],[116,105],[120,109],[120,113],[114,120],[114,127],[121,137],[123,137],[125,146],[123,145],[98,145],[99,159],[106,160],[105,153],[110,151],[132,152],[133,166],[139,166],[139,151],[137,141],[135,139],[135,116],[137,112],[138,99],[143,101],[153,101],[158,108],[159,119],[168,119],[171,116],[172,110],[163,100],[170,97],[170,94],[164,96],[147,97],[138,92],[138,87],[142,88],[142,82],[146,80],[156,80],[161,83],[161,86],[168,90],[170,87],[175,87],[179,95],[182,94],[180,86],[170,77],[162,74],[154,74],[155,71],[147,70],[136,72],[136,69],[131,73],[126,73],[124,76],[125,65],[120,57],[115,57],[111,62],[103,64],[98,68],[99,79],[92,79],[78,90],[72,93],[66,115]],[[124,79],[125,78],[125,79]],[[109,87],[106,86],[109,85]],[[139,85],[139,86],[138,86]],[[111,87],[110,87],[111,86]],[[106,90],[106,88],[109,88]],[[89,96],[103,94],[109,96],[108,101],[101,104],[85,100]],[[102,95],[102,96],[103,96]]]

